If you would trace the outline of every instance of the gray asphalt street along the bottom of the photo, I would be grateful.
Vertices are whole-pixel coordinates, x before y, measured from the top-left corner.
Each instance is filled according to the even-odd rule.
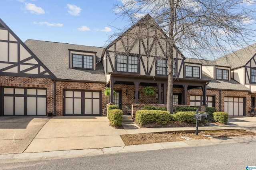
[[[31,162],[2,163],[13,170],[245,170],[256,166],[256,141]]]

